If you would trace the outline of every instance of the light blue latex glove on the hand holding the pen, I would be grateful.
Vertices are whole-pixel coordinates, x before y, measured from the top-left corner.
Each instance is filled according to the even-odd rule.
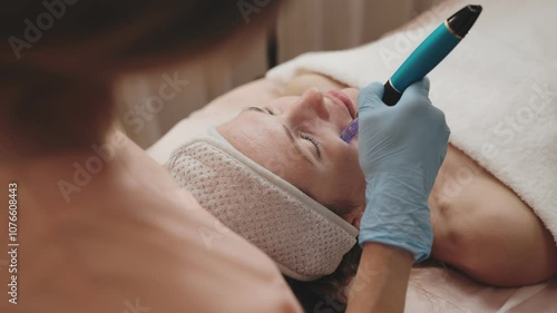
[[[410,251],[414,263],[428,258],[433,245],[428,197],[450,134],[428,92],[424,78],[409,86],[393,107],[381,100],[381,82],[358,96],[359,158],[367,184],[360,245],[398,246]]]

